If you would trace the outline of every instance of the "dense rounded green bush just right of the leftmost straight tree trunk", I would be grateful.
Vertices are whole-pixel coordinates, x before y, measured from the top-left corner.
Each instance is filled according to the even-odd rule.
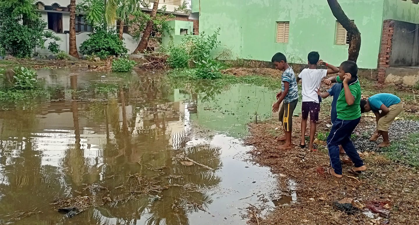
[[[86,55],[109,56],[126,54],[125,43],[119,40],[119,34],[97,28],[95,33],[88,34],[89,38],[80,45],[80,51]]]

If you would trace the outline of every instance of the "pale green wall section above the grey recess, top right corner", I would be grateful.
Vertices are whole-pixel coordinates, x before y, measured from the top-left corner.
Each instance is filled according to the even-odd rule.
[[[411,0],[384,0],[383,20],[387,19],[419,23],[419,5]]]

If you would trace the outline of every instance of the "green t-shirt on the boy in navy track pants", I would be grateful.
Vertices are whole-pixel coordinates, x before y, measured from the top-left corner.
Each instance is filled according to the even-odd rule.
[[[336,77],[336,82],[342,83],[339,77]],[[336,102],[336,111],[338,119],[341,120],[355,120],[361,117],[361,85],[357,79],[354,82],[348,82],[349,90],[355,98],[355,102],[352,105],[348,105],[345,99],[345,89],[342,87],[339,94],[338,101]]]

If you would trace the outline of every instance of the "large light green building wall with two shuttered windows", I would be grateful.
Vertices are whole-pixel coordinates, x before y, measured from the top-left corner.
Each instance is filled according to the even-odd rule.
[[[377,68],[384,0],[339,3],[361,32],[358,65]],[[276,43],[277,21],[290,21],[289,43]],[[307,61],[310,51],[319,51],[321,59],[339,65],[348,56],[348,46],[334,44],[336,18],[326,0],[201,0],[199,30],[211,33],[217,27],[233,59],[270,61],[280,51]]]

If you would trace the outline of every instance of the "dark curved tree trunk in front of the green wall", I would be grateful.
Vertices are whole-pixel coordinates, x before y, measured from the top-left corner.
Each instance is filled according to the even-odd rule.
[[[357,61],[361,49],[361,33],[354,21],[349,20],[337,0],[327,0],[333,15],[339,23],[347,30],[349,35],[348,60]]]

